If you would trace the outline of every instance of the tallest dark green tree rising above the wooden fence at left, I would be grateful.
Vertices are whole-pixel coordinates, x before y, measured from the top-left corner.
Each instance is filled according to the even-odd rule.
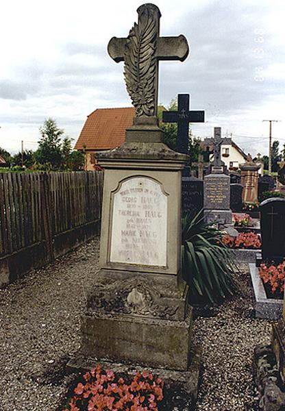
[[[47,165],[49,169],[58,170],[62,165],[62,142],[64,130],[60,129],[55,120],[45,120],[40,127],[40,140],[36,151],[36,160],[39,164]]]

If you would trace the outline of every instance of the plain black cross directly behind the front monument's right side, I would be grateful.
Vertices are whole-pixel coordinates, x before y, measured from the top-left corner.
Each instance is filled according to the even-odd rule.
[[[203,123],[204,111],[189,111],[189,95],[178,95],[178,111],[162,112],[164,123],[177,123],[176,150],[188,154],[189,123]]]

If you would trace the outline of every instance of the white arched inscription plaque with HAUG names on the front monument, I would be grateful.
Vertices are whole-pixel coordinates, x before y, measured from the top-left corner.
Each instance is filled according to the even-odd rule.
[[[167,195],[149,177],[131,177],[113,193],[110,262],[166,266]]]

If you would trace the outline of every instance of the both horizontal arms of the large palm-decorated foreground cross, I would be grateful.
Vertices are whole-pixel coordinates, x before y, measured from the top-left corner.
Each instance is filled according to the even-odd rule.
[[[108,44],[108,53],[116,62],[124,60],[127,38],[112,37]],[[183,62],[189,53],[188,42],[183,34],[175,37],[159,37],[156,49],[158,60],[180,60]]]

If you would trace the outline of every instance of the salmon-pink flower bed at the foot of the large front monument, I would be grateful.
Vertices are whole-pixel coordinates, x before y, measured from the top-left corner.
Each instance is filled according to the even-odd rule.
[[[104,371],[100,365],[84,374],[62,411],[158,411],[164,382],[147,371],[132,378]]]

